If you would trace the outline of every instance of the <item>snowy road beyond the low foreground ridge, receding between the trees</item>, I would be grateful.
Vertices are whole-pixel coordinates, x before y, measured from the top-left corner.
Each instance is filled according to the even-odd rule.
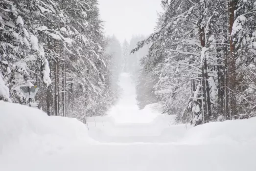
[[[119,86],[121,98],[108,115],[87,118],[89,136],[99,142],[168,142],[163,139],[168,138],[163,136],[164,129],[174,122],[175,116],[161,115],[157,110],[159,104],[139,110],[135,84],[128,73],[120,75]]]

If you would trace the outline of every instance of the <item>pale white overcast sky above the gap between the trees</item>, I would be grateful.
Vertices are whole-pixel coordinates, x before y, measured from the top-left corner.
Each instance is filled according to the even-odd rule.
[[[98,0],[100,18],[105,21],[106,35],[115,34],[120,42],[132,35],[153,32],[161,0]]]

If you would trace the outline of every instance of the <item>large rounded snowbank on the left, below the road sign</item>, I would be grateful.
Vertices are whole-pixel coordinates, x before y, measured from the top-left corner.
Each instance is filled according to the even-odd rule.
[[[0,153],[47,151],[90,141],[87,127],[76,119],[49,117],[36,108],[0,101]]]

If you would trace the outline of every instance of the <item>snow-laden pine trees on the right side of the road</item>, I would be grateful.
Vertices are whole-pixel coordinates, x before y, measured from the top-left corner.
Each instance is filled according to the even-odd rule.
[[[162,0],[140,41],[147,82],[177,121],[199,125],[256,115],[255,0]],[[157,83],[154,84],[155,79]]]

